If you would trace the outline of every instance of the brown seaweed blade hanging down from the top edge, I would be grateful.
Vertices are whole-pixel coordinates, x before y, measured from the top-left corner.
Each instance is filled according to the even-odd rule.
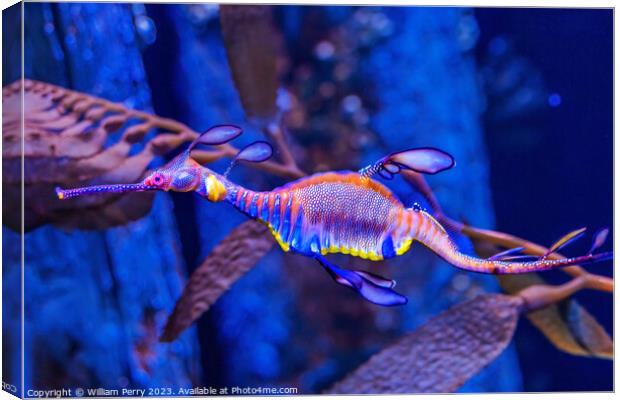
[[[277,115],[278,72],[271,7],[221,5],[220,21],[241,104],[247,115],[270,121]]]

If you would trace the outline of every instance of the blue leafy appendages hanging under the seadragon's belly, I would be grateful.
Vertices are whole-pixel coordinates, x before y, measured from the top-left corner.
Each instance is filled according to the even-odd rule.
[[[407,303],[405,296],[392,289],[396,282],[391,279],[370,272],[339,268],[322,255],[316,255],[315,258],[334,281],[355,290],[371,303],[381,306],[398,306]]]

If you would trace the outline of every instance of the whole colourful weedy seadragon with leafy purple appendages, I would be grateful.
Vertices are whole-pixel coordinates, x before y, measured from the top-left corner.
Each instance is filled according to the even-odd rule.
[[[453,158],[438,149],[418,148],[392,153],[361,170],[325,172],[290,182],[271,191],[256,192],[231,182],[226,174],[206,168],[190,156],[199,144],[217,145],[241,134],[233,125],[215,126],[190,144],[166,166],[135,184],[56,189],[60,199],[103,192],[163,190],[196,192],[211,202],[226,201],[267,227],[283,251],[315,258],[339,284],[380,305],[399,305],[406,297],[394,291],[395,282],[379,275],[338,267],[325,257],[343,253],[373,261],[406,253],[413,242],[428,247],[457,268],[486,274],[520,274],[613,258],[612,252],[594,254],[608,230],[595,235],[586,255],[559,260],[547,256],[583,235],[579,229],[562,237],[540,258],[527,260],[511,249],[488,259],[459,250],[446,229],[429,212],[406,207],[390,189],[373,176],[391,178],[402,169],[435,174],[454,166]],[[272,154],[266,142],[255,142],[239,151],[231,163],[262,162]],[[530,257],[531,258],[531,257]]]

